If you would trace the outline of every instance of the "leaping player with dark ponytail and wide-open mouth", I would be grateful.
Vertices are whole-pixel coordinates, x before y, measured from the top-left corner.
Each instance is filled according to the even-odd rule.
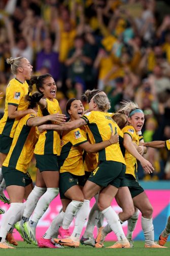
[[[56,123],[64,122],[65,115],[61,114],[61,110],[56,97],[56,84],[54,79],[50,74],[44,74],[40,76],[32,76],[30,79],[31,86],[29,87],[29,92],[32,90],[32,85],[36,84],[37,90],[44,94],[43,98],[39,101],[38,116],[46,116],[49,114],[56,114],[58,120]],[[60,134],[56,131],[44,131],[40,134],[38,142],[35,146],[35,157],[36,166],[39,169],[38,180],[36,180],[36,189],[30,193],[25,209],[23,213],[23,221],[28,220],[30,217],[29,205],[37,206],[31,220],[26,221],[23,224],[24,230],[29,238],[29,240],[37,245],[36,241],[36,226],[39,219],[43,216],[44,212],[47,210],[50,202],[59,193],[59,170],[58,170],[58,160],[57,156],[60,155],[61,145],[60,145]],[[46,192],[42,195],[41,199],[38,201],[39,191],[42,188],[47,188]],[[42,192],[43,193],[43,192]],[[22,222],[21,222],[22,224]]]

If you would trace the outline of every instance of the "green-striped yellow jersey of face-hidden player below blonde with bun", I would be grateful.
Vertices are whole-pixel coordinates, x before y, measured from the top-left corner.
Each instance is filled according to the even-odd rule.
[[[36,127],[27,125],[27,120],[34,117],[36,117],[35,114],[27,114],[20,119],[3,166],[14,168],[24,173],[27,172],[28,165],[33,156],[33,149],[38,140]]]

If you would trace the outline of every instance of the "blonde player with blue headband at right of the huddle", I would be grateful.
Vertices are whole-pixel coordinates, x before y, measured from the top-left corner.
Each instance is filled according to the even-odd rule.
[[[124,107],[122,108],[123,111],[126,111],[126,113],[127,111],[129,111],[129,125],[125,126],[122,129],[124,133],[123,145],[126,149],[126,173],[125,178],[123,180],[123,184],[121,186],[129,188],[131,197],[133,199],[134,207],[136,207],[142,212],[142,228],[145,236],[145,247],[163,248],[162,246],[154,242],[154,228],[152,223],[153,209],[146,193],[144,192],[144,189],[138,183],[137,159],[140,160],[140,158],[138,158],[137,153],[131,153],[131,146],[133,145],[132,142],[139,145],[139,141],[142,141],[142,137],[139,136],[139,134],[141,133],[141,129],[143,127],[145,120],[144,113],[141,109],[137,107],[130,109],[130,106],[131,103],[125,103]],[[153,170],[153,168],[143,168],[148,173],[152,172]],[[107,225],[103,230],[101,230],[101,234],[98,235],[99,239],[97,238],[96,241],[100,240],[100,237],[106,236],[110,232],[109,229],[111,231],[111,228],[109,228],[109,226]],[[115,248],[115,245],[111,246],[111,248]]]

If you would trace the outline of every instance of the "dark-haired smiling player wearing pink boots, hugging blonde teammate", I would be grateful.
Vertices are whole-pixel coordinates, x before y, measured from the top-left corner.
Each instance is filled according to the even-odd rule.
[[[84,107],[79,99],[72,98],[67,101],[66,112],[70,115],[70,120],[79,119],[84,114]],[[97,152],[111,144],[118,142],[118,135],[113,135],[109,140],[90,144],[87,141],[85,127],[75,129],[70,132],[63,132],[61,149],[58,164],[60,168],[60,198],[62,201],[62,211],[65,212],[59,234],[62,238],[68,236],[69,225],[83,205],[84,195],[82,187],[85,183],[85,171],[83,165],[83,150],[87,152]],[[83,149],[83,150],[82,150]],[[70,202],[70,200],[72,200]],[[68,205],[69,204],[69,205]],[[66,211],[65,211],[66,209]],[[61,215],[62,213],[60,213]],[[51,237],[57,233],[58,216],[51,223],[48,231],[38,242],[39,247],[54,248]]]

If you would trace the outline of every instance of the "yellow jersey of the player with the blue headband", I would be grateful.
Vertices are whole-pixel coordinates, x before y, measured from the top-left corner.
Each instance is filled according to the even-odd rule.
[[[131,137],[132,142],[139,146],[140,140],[143,139],[141,132],[135,132],[133,126],[127,125],[122,129],[123,134],[128,134]],[[137,159],[133,157],[127,150],[125,150],[124,156],[126,162],[126,174],[131,174],[135,179],[138,179],[137,175]]]

